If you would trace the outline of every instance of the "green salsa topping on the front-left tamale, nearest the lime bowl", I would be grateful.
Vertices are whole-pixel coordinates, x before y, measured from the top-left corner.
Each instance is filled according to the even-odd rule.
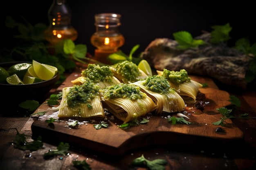
[[[67,93],[67,106],[74,108],[80,104],[87,104],[88,108],[92,108],[90,103],[97,95],[99,95],[99,86],[94,84],[89,78],[85,78],[82,85],[74,85]]]

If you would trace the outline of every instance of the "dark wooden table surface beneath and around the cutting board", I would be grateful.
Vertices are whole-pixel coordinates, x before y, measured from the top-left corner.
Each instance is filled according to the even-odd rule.
[[[78,68],[79,69],[79,68]],[[249,113],[250,117],[256,117],[256,90],[249,87],[246,91],[227,90],[225,86],[216,86],[209,79],[209,86],[228,91],[241,101],[241,106],[234,110],[235,115]],[[55,87],[44,98],[47,99],[54,93]],[[93,149],[84,149],[70,146],[69,155],[56,156],[53,159],[44,159],[43,154],[49,149],[56,149],[52,142],[44,142],[44,147],[36,151],[19,150],[13,147],[17,128],[20,133],[32,135],[31,112],[20,108],[4,108],[0,112],[0,169],[1,170],[76,170],[72,161],[85,160],[92,170],[146,170],[132,166],[133,159],[142,154],[149,160],[166,159],[166,170],[255,170],[256,169],[256,119],[232,119],[233,124],[243,133],[244,138],[237,144],[226,143],[223,146],[215,146],[215,143],[207,141],[200,145],[186,143],[171,144],[170,146],[150,146],[136,150],[129,150],[121,156],[109,153],[95,152]],[[33,139],[28,138],[29,141]],[[200,140],[200,138],[198,139]],[[97,146],[95,146],[97,147]]]

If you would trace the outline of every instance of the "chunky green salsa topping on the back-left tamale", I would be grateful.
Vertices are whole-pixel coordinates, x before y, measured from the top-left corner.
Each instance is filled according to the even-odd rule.
[[[112,82],[113,73],[109,66],[99,66],[96,64],[88,64],[86,70],[82,71],[82,76],[88,77],[94,83],[98,82]]]

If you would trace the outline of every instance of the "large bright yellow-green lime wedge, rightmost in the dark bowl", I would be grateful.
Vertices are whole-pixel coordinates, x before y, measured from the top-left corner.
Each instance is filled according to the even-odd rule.
[[[58,72],[58,69],[56,67],[50,67],[47,64],[41,64],[40,62],[37,62],[35,60],[32,61],[32,65],[37,77],[43,80],[51,79]]]

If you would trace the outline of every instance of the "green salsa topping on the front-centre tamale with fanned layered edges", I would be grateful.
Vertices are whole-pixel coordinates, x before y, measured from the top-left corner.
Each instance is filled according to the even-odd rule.
[[[103,92],[104,99],[128,98],[137,100],[146,97],[146,93],[141,92],[138,86],[124,83],[108,86],[100,92]]]

